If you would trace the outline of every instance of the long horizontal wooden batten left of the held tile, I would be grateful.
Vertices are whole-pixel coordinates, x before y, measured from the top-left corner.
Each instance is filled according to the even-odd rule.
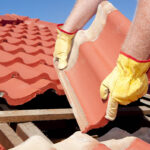
[[[29,122],[65,119],[74,119],[71,108],[0,111],[0,122]]]

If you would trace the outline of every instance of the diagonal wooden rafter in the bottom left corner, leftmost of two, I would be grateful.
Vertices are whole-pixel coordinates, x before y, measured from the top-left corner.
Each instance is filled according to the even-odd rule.
[[[6,148],[13,148],[21,144],[23,140],[6,123],[0,123],[0,143]]]

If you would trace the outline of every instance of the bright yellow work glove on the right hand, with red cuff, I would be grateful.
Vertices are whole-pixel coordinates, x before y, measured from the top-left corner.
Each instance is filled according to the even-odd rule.
[[[146,72],[150,60],[139,61],[121,52],[114,70],[105,78],[100,86],[100,96],[108,105],[105,118],[116,118],[118,104],[127,105],[144,96],[148,90]]]

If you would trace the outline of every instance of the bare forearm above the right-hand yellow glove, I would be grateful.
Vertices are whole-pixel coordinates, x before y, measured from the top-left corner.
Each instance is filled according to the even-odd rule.
[[[150,55],[150,0],[139,0],[134,21],[122,51],[139,60]]]

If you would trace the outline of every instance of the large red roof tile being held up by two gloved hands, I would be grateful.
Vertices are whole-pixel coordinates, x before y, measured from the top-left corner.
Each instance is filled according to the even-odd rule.
[[[108,123],[107,102],[101,100],[99,87],[115,66],[129,26],[130,21],[111,3],[102,2],[89,29],[76,34],[68,67],[58,71],[83,132]]]

